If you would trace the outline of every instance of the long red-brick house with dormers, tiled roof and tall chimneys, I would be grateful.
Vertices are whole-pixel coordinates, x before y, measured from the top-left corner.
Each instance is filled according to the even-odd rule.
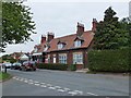
[[[41,36],[39,45],[32,51],[33,61],[40,60],[44,63],[76,64],[78,69],[87,68],[87,51],[92,48],[96,20],[93,20],[92,30],[85,30],[84,25],[78,23],[76,33],[55,38],[55,34],[48,33]]]

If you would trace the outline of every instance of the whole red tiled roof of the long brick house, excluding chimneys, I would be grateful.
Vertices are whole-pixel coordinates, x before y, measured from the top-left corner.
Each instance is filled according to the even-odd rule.
[[[49,44],[45,41],[44,44],[36,45],[35,47],[37,47],[37,49],[38,49],[37,53],[44,52],[45,45],[49,46],[49,48],[46,52],[58,51],[58,50],[68,50],[68,49],[78,49],[78,48],[87,48],[94,38],[94,33],[92,30],[87,30],[87,32],[83,33],[81,38],[79,38],[79,39],[83,40],[83,44],[81,47],[74,47],[74,40],[76,38],[78,38],[76,34],[68,35],[68,36],[63,36],[63,37],[59,37],[59,38],[53,38]],[[62,49],[58,49],[59,41],[66,44],[66,46]],[[33,54],[34,50],[31,53]]]

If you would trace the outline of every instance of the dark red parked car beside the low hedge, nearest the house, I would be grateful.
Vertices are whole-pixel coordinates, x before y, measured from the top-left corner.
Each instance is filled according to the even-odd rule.
[[[36,71],[36,63],[34,61],[25,61],[20,66],[21,71]]]

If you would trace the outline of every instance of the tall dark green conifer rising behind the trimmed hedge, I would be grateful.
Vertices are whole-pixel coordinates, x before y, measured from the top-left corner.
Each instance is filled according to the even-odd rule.
[[[104,21],[96,25],[95,49],[119,49],[128,46],[129,32],[126,23],[118,21],[117,13],[109,7],[105,11]]]

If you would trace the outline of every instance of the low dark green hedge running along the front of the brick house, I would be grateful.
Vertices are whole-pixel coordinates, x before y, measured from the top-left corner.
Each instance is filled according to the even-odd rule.
[[[66,71],[68,69],[68,64],[59,64],[59,63],[37,63],[38,69],[47,69],[47,70],[61,70]]]

